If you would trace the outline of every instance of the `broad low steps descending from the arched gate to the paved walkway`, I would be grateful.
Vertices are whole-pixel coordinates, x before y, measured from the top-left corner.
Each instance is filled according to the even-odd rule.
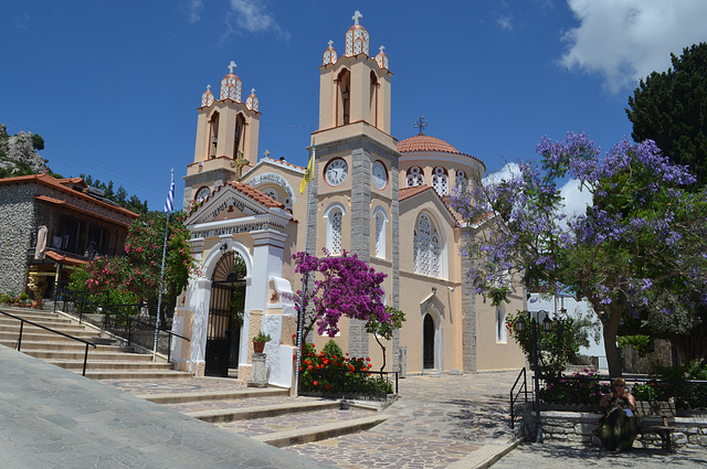
[[[363,431],[388,418],[378,407],[277,388],[138,396],[278,448]]]

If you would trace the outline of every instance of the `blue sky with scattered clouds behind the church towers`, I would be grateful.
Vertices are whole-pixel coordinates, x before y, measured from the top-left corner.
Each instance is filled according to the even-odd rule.
[[[173,168],[179,206],[201,94],[232,60],[260,98],[258,152],[306,164],[321,54],[341,53],[355,10],[390,60],[393,137],[425,116],[489,172],[535,158],[544,135],[608,149],[631,134],[639,79],[707,41],[704,0],[6,2],[0,122],[41,135],[55,172],[112,179],[152,210]]]

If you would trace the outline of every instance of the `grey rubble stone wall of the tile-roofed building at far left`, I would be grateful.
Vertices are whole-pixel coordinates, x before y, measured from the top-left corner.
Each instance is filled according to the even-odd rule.
[[[34,184],[0,185],[0,292],[24,291],[27,249],[35,230]]]

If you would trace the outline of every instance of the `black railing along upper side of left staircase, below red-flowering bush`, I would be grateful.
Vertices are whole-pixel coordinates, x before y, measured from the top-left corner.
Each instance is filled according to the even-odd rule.
[[[94,302],[91,301],[91,295],[105,295],[106,302]],[[66,302],[73,302],[74,309],[78,313],[78,321],[82,322],[84,320],[83,316],[87,311],[94,311],[95,313],[99,313],[103,316],[101,321],[94,322],[91,321],[94,326],[103,328],[106,331],[109,331],[116,335],[122,337],[128,342],[128,345],[138,345],[144,349],[151,349],[155,343],[155,330],[156,324],[145,322],[138,319],[138,316],[146,303],[130,303],[130,305],[119,305],[119,303],[109,303],[109,295],[107,292],[91,292],[91,291],[71,291],[71,290],[62,290],[60,292],[61,299],[64,302],[63,310],[66,312]],[[54,302],[54,308],[56,308],[56,303]],[[159,312],[158,312],[159,313]],[[190,340],[183,335],[175,333],[170,330],[163,329],[160,327],[157,329],[157,334],[159,339],[159,334],[167,334],[167,361],[171,361],[171,344],[172,344],[172,335],[176,335],[179,339],[183,339],[187,342]],[[140,341],[139,339],[145,339]]]

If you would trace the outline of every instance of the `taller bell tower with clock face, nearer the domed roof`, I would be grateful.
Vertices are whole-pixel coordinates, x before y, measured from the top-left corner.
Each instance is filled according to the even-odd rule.
[[[383,46],[370,55],[370,38],[356,12],[345,35],[344,54],[329,41],[319,67],[317,171],[308,206],[307,251],[334,255],[344,249],[388,274],[386,301],[399,303],[397,140],[390,135],[391,77]],[[394,344],[393,344],[394,345]],[[368,356],[362,321],[349,324],[349,353]],[[393,354],[393,361],[397,356]],[[394,366],[394,363],[393,363]]]

